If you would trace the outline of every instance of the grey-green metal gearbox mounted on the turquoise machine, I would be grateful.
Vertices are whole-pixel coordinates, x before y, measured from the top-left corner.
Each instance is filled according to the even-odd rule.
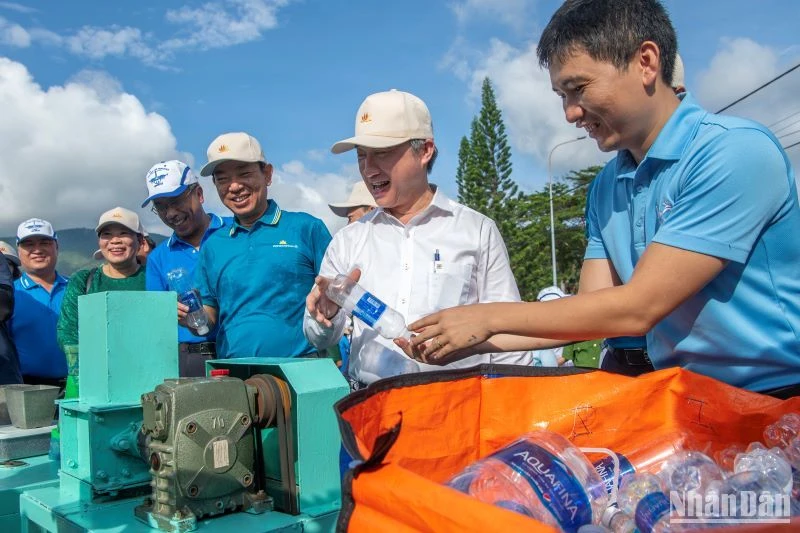
[[[165,531],[188,531],[203,516],[263,512],[254,418],[256,388],[230,377],[167,380],[142,396],[152,497],[136,516]]]

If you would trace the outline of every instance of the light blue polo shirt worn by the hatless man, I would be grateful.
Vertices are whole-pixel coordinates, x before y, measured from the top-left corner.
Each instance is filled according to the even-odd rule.
[[[655,368],[681,366],[764,391],[800,383],[800,208],[775,137],[686,94],[645,158],[622,151],[587,200],[586,259],[623,283],[651,242],[726,268],[647,335]]]

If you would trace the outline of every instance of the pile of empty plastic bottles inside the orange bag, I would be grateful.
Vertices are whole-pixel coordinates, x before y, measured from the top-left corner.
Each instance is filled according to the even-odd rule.
[[[800,516],[800,414],[767,426],[763,443],[714,458],[679,448],[642,460],[535,431],[447,485],[566,532],[660,533]],[[590,461],[598,452],[608,457]]]

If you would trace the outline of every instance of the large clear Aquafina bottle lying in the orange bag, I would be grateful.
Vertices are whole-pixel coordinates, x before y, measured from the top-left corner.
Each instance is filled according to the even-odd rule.
[[[603,481],[583,452],[548,431],[523,435],[447,485],[570,532],[598,524],[608,505]]]

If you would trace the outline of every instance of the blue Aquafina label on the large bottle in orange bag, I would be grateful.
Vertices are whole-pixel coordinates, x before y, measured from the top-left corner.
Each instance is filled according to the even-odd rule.
[[[492,457],[503,461],[528,482],[564,531],[592,523],[592,507],[580,481],[564,462],[541,446],[517,442]]]

